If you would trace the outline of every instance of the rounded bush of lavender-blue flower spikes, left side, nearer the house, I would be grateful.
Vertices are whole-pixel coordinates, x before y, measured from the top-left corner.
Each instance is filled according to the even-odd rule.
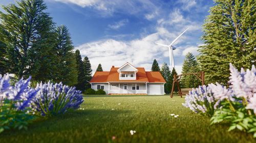
[[[37,84],[39,90],[32,100],[31,108],[33,113],[40,116],[52,117],[65,113],[70,109],[77,109],[83,102],[81,91],[76,91],[75,87],[69,87],[60,83]]]

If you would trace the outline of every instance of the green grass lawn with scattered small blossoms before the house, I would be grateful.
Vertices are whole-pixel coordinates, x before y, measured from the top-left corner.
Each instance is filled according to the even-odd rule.
[[[27,131],[5,131],[0,142],[256,142],[252,134],[228,132],[228,124],[210,126],[208,117],[185,108],[184,101],[169,96],[84,96],[84,110],[40,119]]]

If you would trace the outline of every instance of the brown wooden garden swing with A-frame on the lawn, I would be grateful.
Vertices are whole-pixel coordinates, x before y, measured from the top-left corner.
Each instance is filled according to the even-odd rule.
[[[184,74],[179,74],[179,75],[175,74],[174,75],[174,81],[173,81],[173,88],[172,88],[172,92],[171,92],[170,98],[173,98],[174,84],[175,83],[177,83],[177,85],[178,85],[178,89],[179,89],[178,96],[180,96],[181,98],[182,98],[182,95],[186,95],[186,94],[188,94],[189,91],[192,90],[192,89],[180,89],[180,87],[179,87],[179,82],[180,82],[181,76],[182,75],[188,75],[188,74],[195,75],[198,79],[200,79],[202,81],[202,85],[204,85],[204,71],[202,71],[202,72],[200,71],[200,72],[196,72],[196,73],[184,73]]]

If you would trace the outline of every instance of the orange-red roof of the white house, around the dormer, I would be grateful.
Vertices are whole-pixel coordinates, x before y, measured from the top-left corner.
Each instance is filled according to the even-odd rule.
[[[160,72],[146,72],[144,68],[136,68],[136,80],[119,80],[119,68],[111,68],[109,72],[96,71],[90,82],[92,83],[104,83],[104,82],[162,82],[165,80]]]

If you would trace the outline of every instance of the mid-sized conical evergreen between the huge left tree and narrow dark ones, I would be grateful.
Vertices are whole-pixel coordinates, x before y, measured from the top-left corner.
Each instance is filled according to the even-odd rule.
[[[77,84],[77,70],[73,53],[74,46],[72,45],[69,30],[66,26],[61,25],[56,28],[55,32],[57,35],[55,51],[59,58],[57,81],[62,81],[63,84],[67,85],[75,85]]]

